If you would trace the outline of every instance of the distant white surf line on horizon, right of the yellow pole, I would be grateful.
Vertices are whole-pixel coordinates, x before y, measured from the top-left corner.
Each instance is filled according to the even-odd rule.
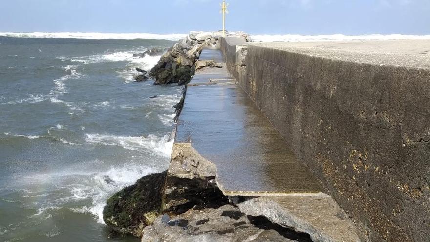
[[[430,39],[430,35],[403,35],[403,34],[368,34],[368,35],[251,35],[254,42],[306,42],[306,41],[352,41],[352,40],[407,40],[407,39]]]

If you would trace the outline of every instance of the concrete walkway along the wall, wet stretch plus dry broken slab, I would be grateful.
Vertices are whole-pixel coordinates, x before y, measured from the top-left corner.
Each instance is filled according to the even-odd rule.
[[[224,58],[210,48],[199,60]],[[348,216],[222,66],[198,71],[188,85],[175,143],[191,144],[215,164],[225,195],[258,197],[238,204],[245,214],[308,233],[315,242],[361,241]]]

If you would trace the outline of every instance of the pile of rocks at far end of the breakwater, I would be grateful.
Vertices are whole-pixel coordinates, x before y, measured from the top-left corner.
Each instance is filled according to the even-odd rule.
[[[149,76],[155,80],[155,85],[188,83],[196,70],[196,63],[204,47],[218,45],[221,32],[190,32],[190,34],[174,44],[158,63],[151,69]],[[227,33],[227,36],[240,36],[251,41],[249,35],[243,32]]]

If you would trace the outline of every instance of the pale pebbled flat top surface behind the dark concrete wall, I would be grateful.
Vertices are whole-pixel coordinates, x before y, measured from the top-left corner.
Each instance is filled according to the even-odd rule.
[[[251,45],[377,66],[430,68],[430,40],[262,42]]]

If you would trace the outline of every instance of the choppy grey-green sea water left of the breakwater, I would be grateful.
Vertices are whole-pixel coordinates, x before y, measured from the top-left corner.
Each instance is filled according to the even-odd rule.
[[[0,241],[136,241],[108,239],[102,210],[168,165],[182,88],[131,76],[159,59],[133,53],[173,42],[0,43]]]

